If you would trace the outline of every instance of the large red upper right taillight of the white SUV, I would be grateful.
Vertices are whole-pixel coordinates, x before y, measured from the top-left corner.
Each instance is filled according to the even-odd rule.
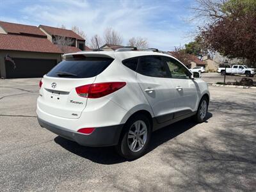
[[[93,83],[79,86],[76,92],[81,97],[99,98],[109,95],[125,86],[125,82]]]

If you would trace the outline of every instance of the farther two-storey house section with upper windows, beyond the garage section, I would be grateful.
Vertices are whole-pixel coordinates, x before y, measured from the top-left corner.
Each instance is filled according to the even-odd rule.
[[[74,31],[69,29],[54,28],[50,26],[40,25],[38,28],[47,35],[47,39],[53,44],[63,39],[67,45],[61,47],[64,53],[85,51],[85,40],[83,37],[77,35]],[[68,43],[67,43],[68,42]],[[60,46],[59,46],[60,47]]]

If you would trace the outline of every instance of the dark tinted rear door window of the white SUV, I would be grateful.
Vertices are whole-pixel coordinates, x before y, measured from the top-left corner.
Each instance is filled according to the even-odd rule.
[[[143,56],[139,61],[138,72],[144,76],[167,77],[167,71],[164,67],[161,57]]]

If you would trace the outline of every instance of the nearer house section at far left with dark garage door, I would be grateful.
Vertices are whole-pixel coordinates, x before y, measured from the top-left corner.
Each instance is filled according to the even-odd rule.
[[[0,21],[1,77],[42,77],[61,61],[61,54],[36,26]]]

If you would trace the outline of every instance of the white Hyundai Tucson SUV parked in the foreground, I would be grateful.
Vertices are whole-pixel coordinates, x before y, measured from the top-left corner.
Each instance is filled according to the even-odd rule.
[[[39,124],[63,138],[115,145],[136,159],[157,129],[189,116],[205,120],[207,83],[169,54],[120,49],[63,59],[40,81],[36,110]]]

